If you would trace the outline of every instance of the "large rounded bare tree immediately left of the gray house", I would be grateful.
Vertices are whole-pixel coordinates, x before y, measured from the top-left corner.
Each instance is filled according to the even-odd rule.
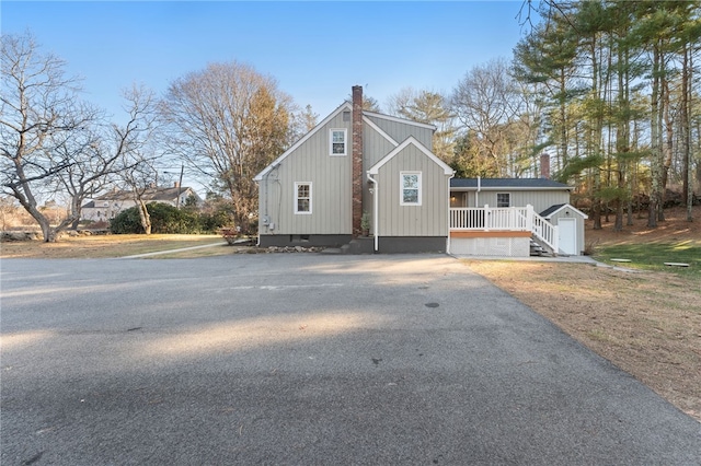
[[[169,150],[230,196],[243,231],[257,211],[253,176],[286,148],[291,108],[273,78],[235,61],[175,80],[163,101]]]

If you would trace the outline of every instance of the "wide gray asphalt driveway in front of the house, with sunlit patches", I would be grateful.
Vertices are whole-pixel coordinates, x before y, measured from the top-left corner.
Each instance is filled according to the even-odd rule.
[[[2,465],[701,464],[701,423],[447,256],[0,267]]]

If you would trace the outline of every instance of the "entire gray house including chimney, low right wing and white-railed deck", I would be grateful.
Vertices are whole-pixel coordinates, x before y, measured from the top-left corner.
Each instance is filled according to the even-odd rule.
[[[568,218],[579,219],[584,232],[586,215],[568,205],[566,185],[452,179],[452,168],[432,151],[435,130],[363,110],[363,88],[354,86],[352,102],[254,177],[258,245],[520,256],[530,254],[531,236],[563,253],[558,224],[539,213],[565,229]],[[563,242],[566,254],[579,254],[584,233],[573,241]]]

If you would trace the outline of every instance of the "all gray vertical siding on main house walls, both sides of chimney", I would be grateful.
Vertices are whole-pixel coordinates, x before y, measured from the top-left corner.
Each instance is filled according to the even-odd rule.
[[[414,136],[426,148],[432,147],[433,131],[411,123],[368,117],[390,138],[400,143]],[[347,129],[347,155],[329,155],[329,130]],[[260,224],[262,234],[285,235],[344,235],[352,232],[352,121],[343,121],[340,113],[292,153],[279,166],[268,172],[260,183]],[[365,172],[377,164],[395,144],[364,125],[363,209],[374,215],[374,188]],[[422,172],[422,206],[400,206],[399,184],[401,171]],[[380,235],[447,236],[448,234],[448,177],[441,167],[413,145],[388,162],[377,176],[380,182]],[[384,179],[387,178],[387,179]],[[295,214],[295,183],[312,184],[312,213]],[[271,231],[265,224],[267,215],[275,224]],[[372,225],[375,231],[375,225]]]

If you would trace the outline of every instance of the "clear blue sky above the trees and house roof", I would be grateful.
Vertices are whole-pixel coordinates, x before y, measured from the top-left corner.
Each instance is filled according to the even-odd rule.
[[[323,118],[360,84],[384,106],[402,88],[449,93],[474,66],[510,58],[521,1],[8,1],[2,33],[31,31],[115,115],[133,83],[162,95],[209,62],[274,77]]]

